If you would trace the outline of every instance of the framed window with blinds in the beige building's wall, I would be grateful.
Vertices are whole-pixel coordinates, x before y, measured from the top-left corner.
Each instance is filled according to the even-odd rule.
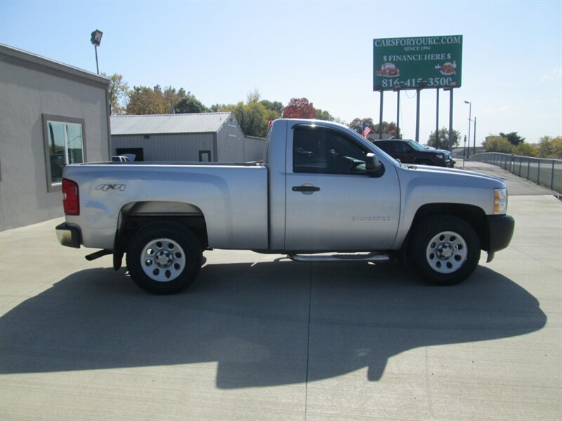
[[[86,161],[84,120],[43,114],[47,190],[60,190],[63,168]]]

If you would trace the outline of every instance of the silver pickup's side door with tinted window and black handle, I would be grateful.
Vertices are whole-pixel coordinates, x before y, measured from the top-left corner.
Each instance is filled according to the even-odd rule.
[[[396,169],[370,177],[372,151],[334,128],[297,125],[287,138],[285,250],[390,248],[400,217]]]

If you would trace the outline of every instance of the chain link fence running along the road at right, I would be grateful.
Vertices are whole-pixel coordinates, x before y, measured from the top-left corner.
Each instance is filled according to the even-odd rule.
[[[526,178],[555,192],[562,193],[562,159],[532,158],[488,152],[470,157],[471,161],[491,163],[511,174]]]

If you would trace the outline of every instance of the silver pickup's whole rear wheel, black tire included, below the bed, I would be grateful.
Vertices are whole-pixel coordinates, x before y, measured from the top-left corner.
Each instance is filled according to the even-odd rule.
[[[176,222],[153,222],[129,241],[126,264],[133,281],[157,295],[188,288],[199,273],[202,250],[197,237]]]

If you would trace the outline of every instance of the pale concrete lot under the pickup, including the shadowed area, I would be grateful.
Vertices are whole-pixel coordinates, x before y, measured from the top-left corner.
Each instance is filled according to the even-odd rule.
[[[458,286],[206,252],[153,296],[60,220],[0,233],[0,420],[561,420],[562,202],[495,167],[511,246]]]

